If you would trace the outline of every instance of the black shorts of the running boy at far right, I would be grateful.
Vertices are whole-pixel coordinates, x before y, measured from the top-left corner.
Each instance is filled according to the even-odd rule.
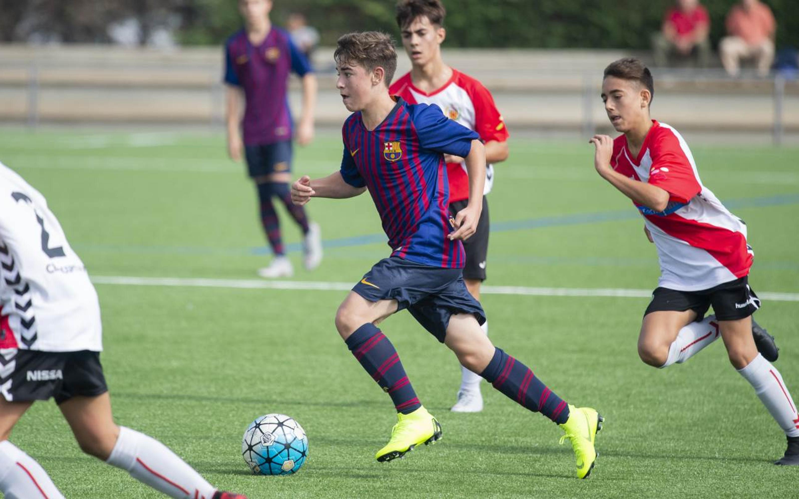
[[[659,311],[686,311],[697,313],[702,320],[710,306],[718,320],[744,319],[760,308],[760,299],[749,287],[749,276],[719,284],[702,291],[677,291],[658,287],[652,293],[652,301],[644,315]]]

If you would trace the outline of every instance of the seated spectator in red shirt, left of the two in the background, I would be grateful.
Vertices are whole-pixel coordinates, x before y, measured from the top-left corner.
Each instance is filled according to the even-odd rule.
[[[699,0],[678,0],[666,11],[661,30],[652,37],[655,64],[669,65],[670,54],[681,58],[696,55],[706,67],[710,60],[710,16]]]

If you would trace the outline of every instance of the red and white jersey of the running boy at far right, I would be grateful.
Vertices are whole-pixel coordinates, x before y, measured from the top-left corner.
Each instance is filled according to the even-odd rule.
[[[652,123],[638,157],[630,154],[624,135],[616,137],[610,164],[670,194],[662,212],[636,204],[658,248],[658,286],[698,291],[748,275],[753,251],[743,220],[702,185],[694,156],[677,130]]]

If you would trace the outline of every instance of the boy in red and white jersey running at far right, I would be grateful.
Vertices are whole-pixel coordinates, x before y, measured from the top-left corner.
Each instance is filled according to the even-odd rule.
[[[799,414],[782,377],[773,338],[754,323],[760,300],[749,287],[753,251],[746,225],[699,179],[686,141],[650,119],[654,84],[634,58],[608,65],[602,101],[615,140],[595,135],[594,168],[633,201],[658,249],[661,277],[644,312],[638,354],[655,367],[685,362],[719,336],[735,369],[785,431],[775,464],[799,465]],[[710,307],[714,315],[705,317]]]

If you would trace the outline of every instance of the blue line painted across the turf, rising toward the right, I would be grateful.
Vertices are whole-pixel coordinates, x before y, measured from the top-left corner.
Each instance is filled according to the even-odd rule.
[[[762,208],[768,206],[780,206],[785,204],[799,203],[799,193],[783,194],[780,196],[749,197],[728,200],[725,202],[727,208]],[[509,232],[519,230],[530,230],[534,228],[566,227],[568,225],[581,225],[602,222],[616,222],[621,220],[635,220],[641,216],[634,208],[625,210],[615,210],[613,212],[594,212],[594,213],[573,213],[570,215],[542,216],[526,220],[506,220],[504,222],[492,222],[491,232]],[[357,246],[368,246],[369,244],[385,244],[384,234],[365,234],[363,236],[340,237],[331,240],[324,240],[323,246],[327,249],[333,248],[355,248]],[[176,255],[271,255],[272,250],[268,247],[258,246],[256,248],[208,248],[202,246],[129,246],[113,244],[76,244],[79,250],[95,251],[119,251],[133,253],[153,253],[153,254],[176,254]],[[290,243],[285,245],[288,252],[302,251],[301,243]]]

